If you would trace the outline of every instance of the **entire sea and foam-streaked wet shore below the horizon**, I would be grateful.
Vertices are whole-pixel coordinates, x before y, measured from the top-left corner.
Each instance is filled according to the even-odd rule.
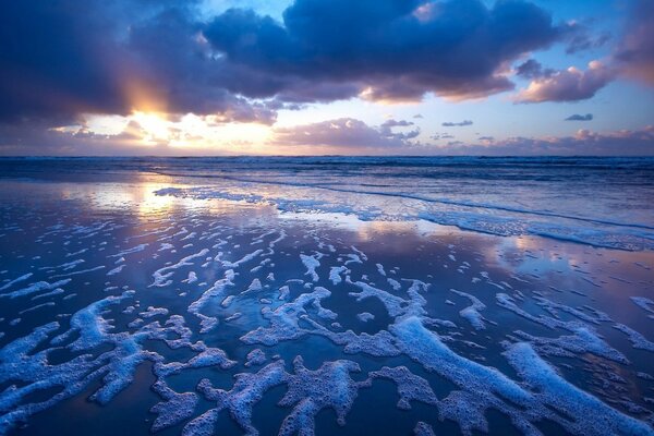
[[[0,434],[653,433],[652,160],[0,167]]]

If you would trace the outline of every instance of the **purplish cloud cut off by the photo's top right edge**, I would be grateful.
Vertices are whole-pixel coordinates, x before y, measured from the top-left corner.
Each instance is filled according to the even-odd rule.
[[[634,0],[615,59],[621,72],[654,85],[654,2]]]

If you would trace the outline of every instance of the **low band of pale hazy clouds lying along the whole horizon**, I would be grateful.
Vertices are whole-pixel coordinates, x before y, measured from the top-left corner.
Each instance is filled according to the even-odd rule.
[[[269,129],[269,128],[265,128]],[[171,126],[175,135],[183,136],[180,124]],[[124,155],[143,156],[210,156],[240,154],[287,155],[451,155],[451,156],[654,156],[654,126],[641,130],[592,132],[579,130],[571,136],[494,138],[480,136],[477,143],[456,141],[443,134],[434,141],[445,144],[421,143],[408,140],[382,126],[370,126],[354,119],[337,119],[296,125],[272,128],[266,143],[254,144],[239,141],[242,130],[233,131],[233,142],[227,146],[179,148],[166,142],[152,141],[143,145],[144,125],[132,122],[120,135],[98,135],[80,130],[76,132],[48,130],[45,124],[0,125],[0,154],[2,155]],[[219,135],[221,136],[221,135]],[[15,141],[17,138],[17,141]],[[138,146],[134,144],[138,143]]]

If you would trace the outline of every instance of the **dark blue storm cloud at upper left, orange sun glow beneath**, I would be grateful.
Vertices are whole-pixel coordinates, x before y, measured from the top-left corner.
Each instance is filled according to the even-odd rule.
[[[0,121],[70,123],[145,105],[271,123],[222,82],[242,76],[202,39],[194,1],[9,2],[0,14]]]

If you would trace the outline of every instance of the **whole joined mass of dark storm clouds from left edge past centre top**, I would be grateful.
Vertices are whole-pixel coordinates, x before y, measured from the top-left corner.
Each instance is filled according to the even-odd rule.
[[[140,97],[263,122],[275,116],[252,99],[479,97],[512,88],[505,66],[562,34],[517,0],[296,0],[282,23],[240,9],[201,20],[194,1],[10,1],[0,120],[126,113]]]

